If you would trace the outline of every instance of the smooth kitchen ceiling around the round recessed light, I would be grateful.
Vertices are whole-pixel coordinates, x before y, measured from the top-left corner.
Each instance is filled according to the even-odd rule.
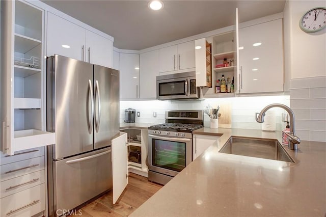
[[[152,11],[149,1],[43,0],[84,23],[114,37],[119,49],[140,50],[216,30],[234,23],[283,12],[285,0],[163,1]]]

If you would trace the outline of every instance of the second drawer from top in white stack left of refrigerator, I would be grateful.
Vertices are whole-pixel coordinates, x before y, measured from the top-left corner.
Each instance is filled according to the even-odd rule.
[[[12,162],[0,166],[0,181],[44,170],[44,156]]]

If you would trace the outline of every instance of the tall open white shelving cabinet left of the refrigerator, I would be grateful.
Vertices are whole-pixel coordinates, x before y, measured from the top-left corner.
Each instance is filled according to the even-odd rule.
[[[12,36],[5,58],[10,67],[5,78],[11,79],[5,89],[10,121],[5,124],[9,130],[2,151],[13,155],[15,151],[55,144],[55,133],[46,132],[44,124],[44,10],[23,1],[10,2],[8,8],[14,13],[8,14],[14,25],[4,26]]]

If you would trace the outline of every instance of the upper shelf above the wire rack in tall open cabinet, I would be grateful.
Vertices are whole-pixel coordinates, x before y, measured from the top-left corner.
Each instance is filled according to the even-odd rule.
[[[26,53],[41,43],[40,40],[15,33],[15,52]]]

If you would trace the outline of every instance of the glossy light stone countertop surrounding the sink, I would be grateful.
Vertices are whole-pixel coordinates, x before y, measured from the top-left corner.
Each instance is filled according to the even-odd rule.
[[[281,131],[210,129],[214,144],[130,216],[325,216],[326,143],[286,151],[295,163],[218,151],[231,135],[278,139]]]

